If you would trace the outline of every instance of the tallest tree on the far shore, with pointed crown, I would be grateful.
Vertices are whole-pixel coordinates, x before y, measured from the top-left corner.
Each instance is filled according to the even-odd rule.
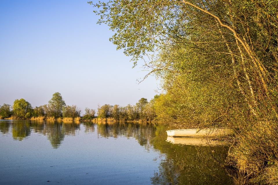
[[[63,107],[66,106],[66,103],[59,92],[55,92],[48,103],[54,110],[53,116],[55,118],[62,116]]]

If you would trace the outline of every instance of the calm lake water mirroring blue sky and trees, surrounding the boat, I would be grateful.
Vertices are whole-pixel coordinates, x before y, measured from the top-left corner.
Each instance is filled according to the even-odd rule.
[[[0,184],[232,184],[227,147],[172,144],[168,129],[0,120]]]

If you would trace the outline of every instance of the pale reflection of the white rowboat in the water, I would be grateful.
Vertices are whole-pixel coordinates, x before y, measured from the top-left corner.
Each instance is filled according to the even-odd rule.
[[[204,137],[167,137],[167,141],[180,145],[197,145],[197,146],[227,146],[227,143],[215,138]]]

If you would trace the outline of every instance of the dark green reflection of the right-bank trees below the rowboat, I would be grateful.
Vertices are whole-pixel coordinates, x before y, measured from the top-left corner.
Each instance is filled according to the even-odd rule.
[[[233,184],[223,164],[227,146],[175,145],[162,142],[167,133],[157,131],[153,147],[164,154],[152,184]]]

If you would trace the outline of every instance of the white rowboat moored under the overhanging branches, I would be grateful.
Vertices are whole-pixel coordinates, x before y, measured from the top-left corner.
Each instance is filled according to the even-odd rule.
[[[177,129],[166,132],[172,137],[217,137],[233,134],[230,128]]]

